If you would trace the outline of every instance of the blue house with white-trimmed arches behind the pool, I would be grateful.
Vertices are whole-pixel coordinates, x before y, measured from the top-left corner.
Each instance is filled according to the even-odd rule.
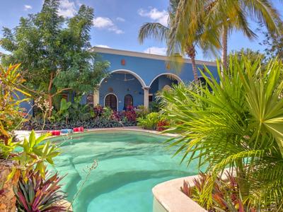
[[[99,89],[88,95],[84,102],[103,105],[112,110],[125,110],[132,105],[149,107],[158,90],[168,89],[173,83],[193,81],[192,64],[185,59],[181,71],[171,69],[168,57],[130,52],[118,49],[93,47],[101,59],[110,61],[109,76],[100,81]],[[200,69],[204,65],[216,73],[216,63],[197,60]]]

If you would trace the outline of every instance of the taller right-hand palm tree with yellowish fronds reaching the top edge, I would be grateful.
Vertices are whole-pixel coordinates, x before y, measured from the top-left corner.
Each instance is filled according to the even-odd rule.
[[[227,67],[227,40],[234,30],[240,30],[250,40],[256,37],[249,28],[248,18],[263,23],[273,34],[281,32],[278,11],[269,0],[180,0],[176,8],[174,26],[179,37],[195,39],[196,29],[205,32],[221,30],[222,67]],[[192,27],[192,24],[195,27]]]

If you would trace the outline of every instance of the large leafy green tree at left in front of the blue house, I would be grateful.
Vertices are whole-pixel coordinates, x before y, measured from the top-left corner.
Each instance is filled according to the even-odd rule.
[[[52,114],[53,98],[63,92],[93,91],[108,69],[91,47],[93,8],[82,5],[76,16],[58,15],[59,0],[45,0],[40,13],[21,18],[13,30],[4,28],[1,47],[5,65],[21,63],[25,88],[47,98]]]

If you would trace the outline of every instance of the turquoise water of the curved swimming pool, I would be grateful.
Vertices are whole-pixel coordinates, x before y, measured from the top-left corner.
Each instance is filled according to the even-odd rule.
[[[169,179],[197,174],[172,158],[175,149],[166,148],[168,137],[134,131],[101,131],[76,134],[54,140],[62,143],[62,154],[52,170],[64,178],[64,191],[71,201],[86,177],[86,167],[98,160],[79,196],[74,211],[152,211],[152,187]]]

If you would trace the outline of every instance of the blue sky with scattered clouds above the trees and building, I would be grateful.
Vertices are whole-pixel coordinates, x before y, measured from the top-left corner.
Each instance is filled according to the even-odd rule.
[[[272,3],[283,14],[283,2],[272,0]],[[62,0],[59,13],[63,16],[74,16],[81,4],[91,6],[95,11],[94,26],[91,30],[91,44],[114,49],[125,49],[137,52],[165,54],[165,45],[155,40],[146,40],[140,45],[137,37],[140,26],[145,22],[166,24],[168,0]],[[18,25],[21,16],[37,13],[42,7],[42,0],[1,0],[0,27],[13,28]],[[258,28],[250,21],[253,29]],[[258,32],[257,32],[258,33]],[[1,36],[1,33],[0,33]],[[258,40],[250,41],[241,33],[233,33],[229,37],[229,50],[250,48],[262,51],[258,43],[263,36],[258,33]],[[3,52],[3,49],[0,49]],[[197,59],[204,58],[197,51]]]

